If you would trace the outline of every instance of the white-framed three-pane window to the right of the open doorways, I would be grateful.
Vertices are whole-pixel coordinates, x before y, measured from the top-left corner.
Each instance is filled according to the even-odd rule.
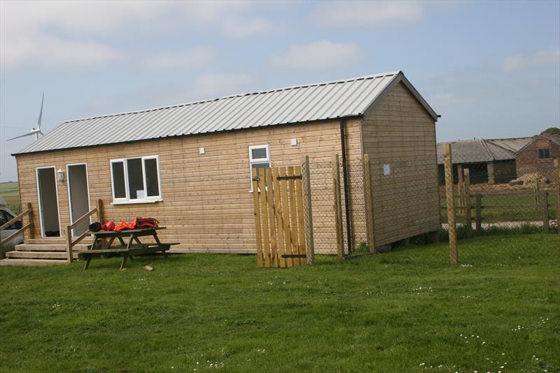
[[[161,201],[158,155],[111,160],[113,203]]]

